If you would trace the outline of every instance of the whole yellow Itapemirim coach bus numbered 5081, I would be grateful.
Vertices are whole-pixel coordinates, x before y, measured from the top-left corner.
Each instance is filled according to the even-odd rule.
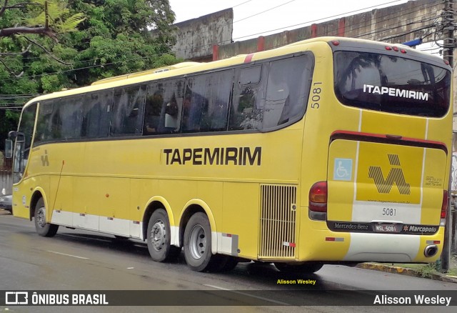
[[[195,271],[433,262],[450,104],[443,59],[337,37],[104,79],[24,106],[14,216],[141,239],[158,262],[184,249]]]

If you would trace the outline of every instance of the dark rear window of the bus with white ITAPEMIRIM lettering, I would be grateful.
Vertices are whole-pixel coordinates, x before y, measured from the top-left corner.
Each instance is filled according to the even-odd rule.
[[[449,109],[451,72],[420,61],[367,52],[336,51],[335,93],[362,109],[441,117]]]

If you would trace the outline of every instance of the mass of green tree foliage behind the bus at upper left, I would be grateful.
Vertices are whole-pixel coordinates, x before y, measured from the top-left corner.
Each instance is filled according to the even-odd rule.
[[[177,62],[169,0],[67,1],[0,0],[11,7],[0,15],[0,106],[25,102],[6,95],[31,98]],[[52,35],[1,35],[11,28],[46,27]]]

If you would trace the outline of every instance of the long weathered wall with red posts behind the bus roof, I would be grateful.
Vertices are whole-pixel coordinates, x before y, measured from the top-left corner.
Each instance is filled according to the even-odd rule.
[[[213,59],[226,59],[237,54],[273,49],[318,36],[346,36],[391,43],[406,42],[430,34],[433,29],[427,26],[438,19],[443,7],[442,0],[408,1],[406,4],[374,9],[300,29],[219,45],[218,49],[214,49],[217,54]],[[424,42],[426,41],[433,41],[433,35],[426,36]]]

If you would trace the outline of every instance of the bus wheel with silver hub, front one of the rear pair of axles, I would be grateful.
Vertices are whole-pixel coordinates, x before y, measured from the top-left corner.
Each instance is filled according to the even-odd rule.
[[[156,262],[165,262],[176,258],[181,252],[179,247],[171,245],[170,222],[164,209],[156,209],[149,218],[146,239],[149,254]]]

